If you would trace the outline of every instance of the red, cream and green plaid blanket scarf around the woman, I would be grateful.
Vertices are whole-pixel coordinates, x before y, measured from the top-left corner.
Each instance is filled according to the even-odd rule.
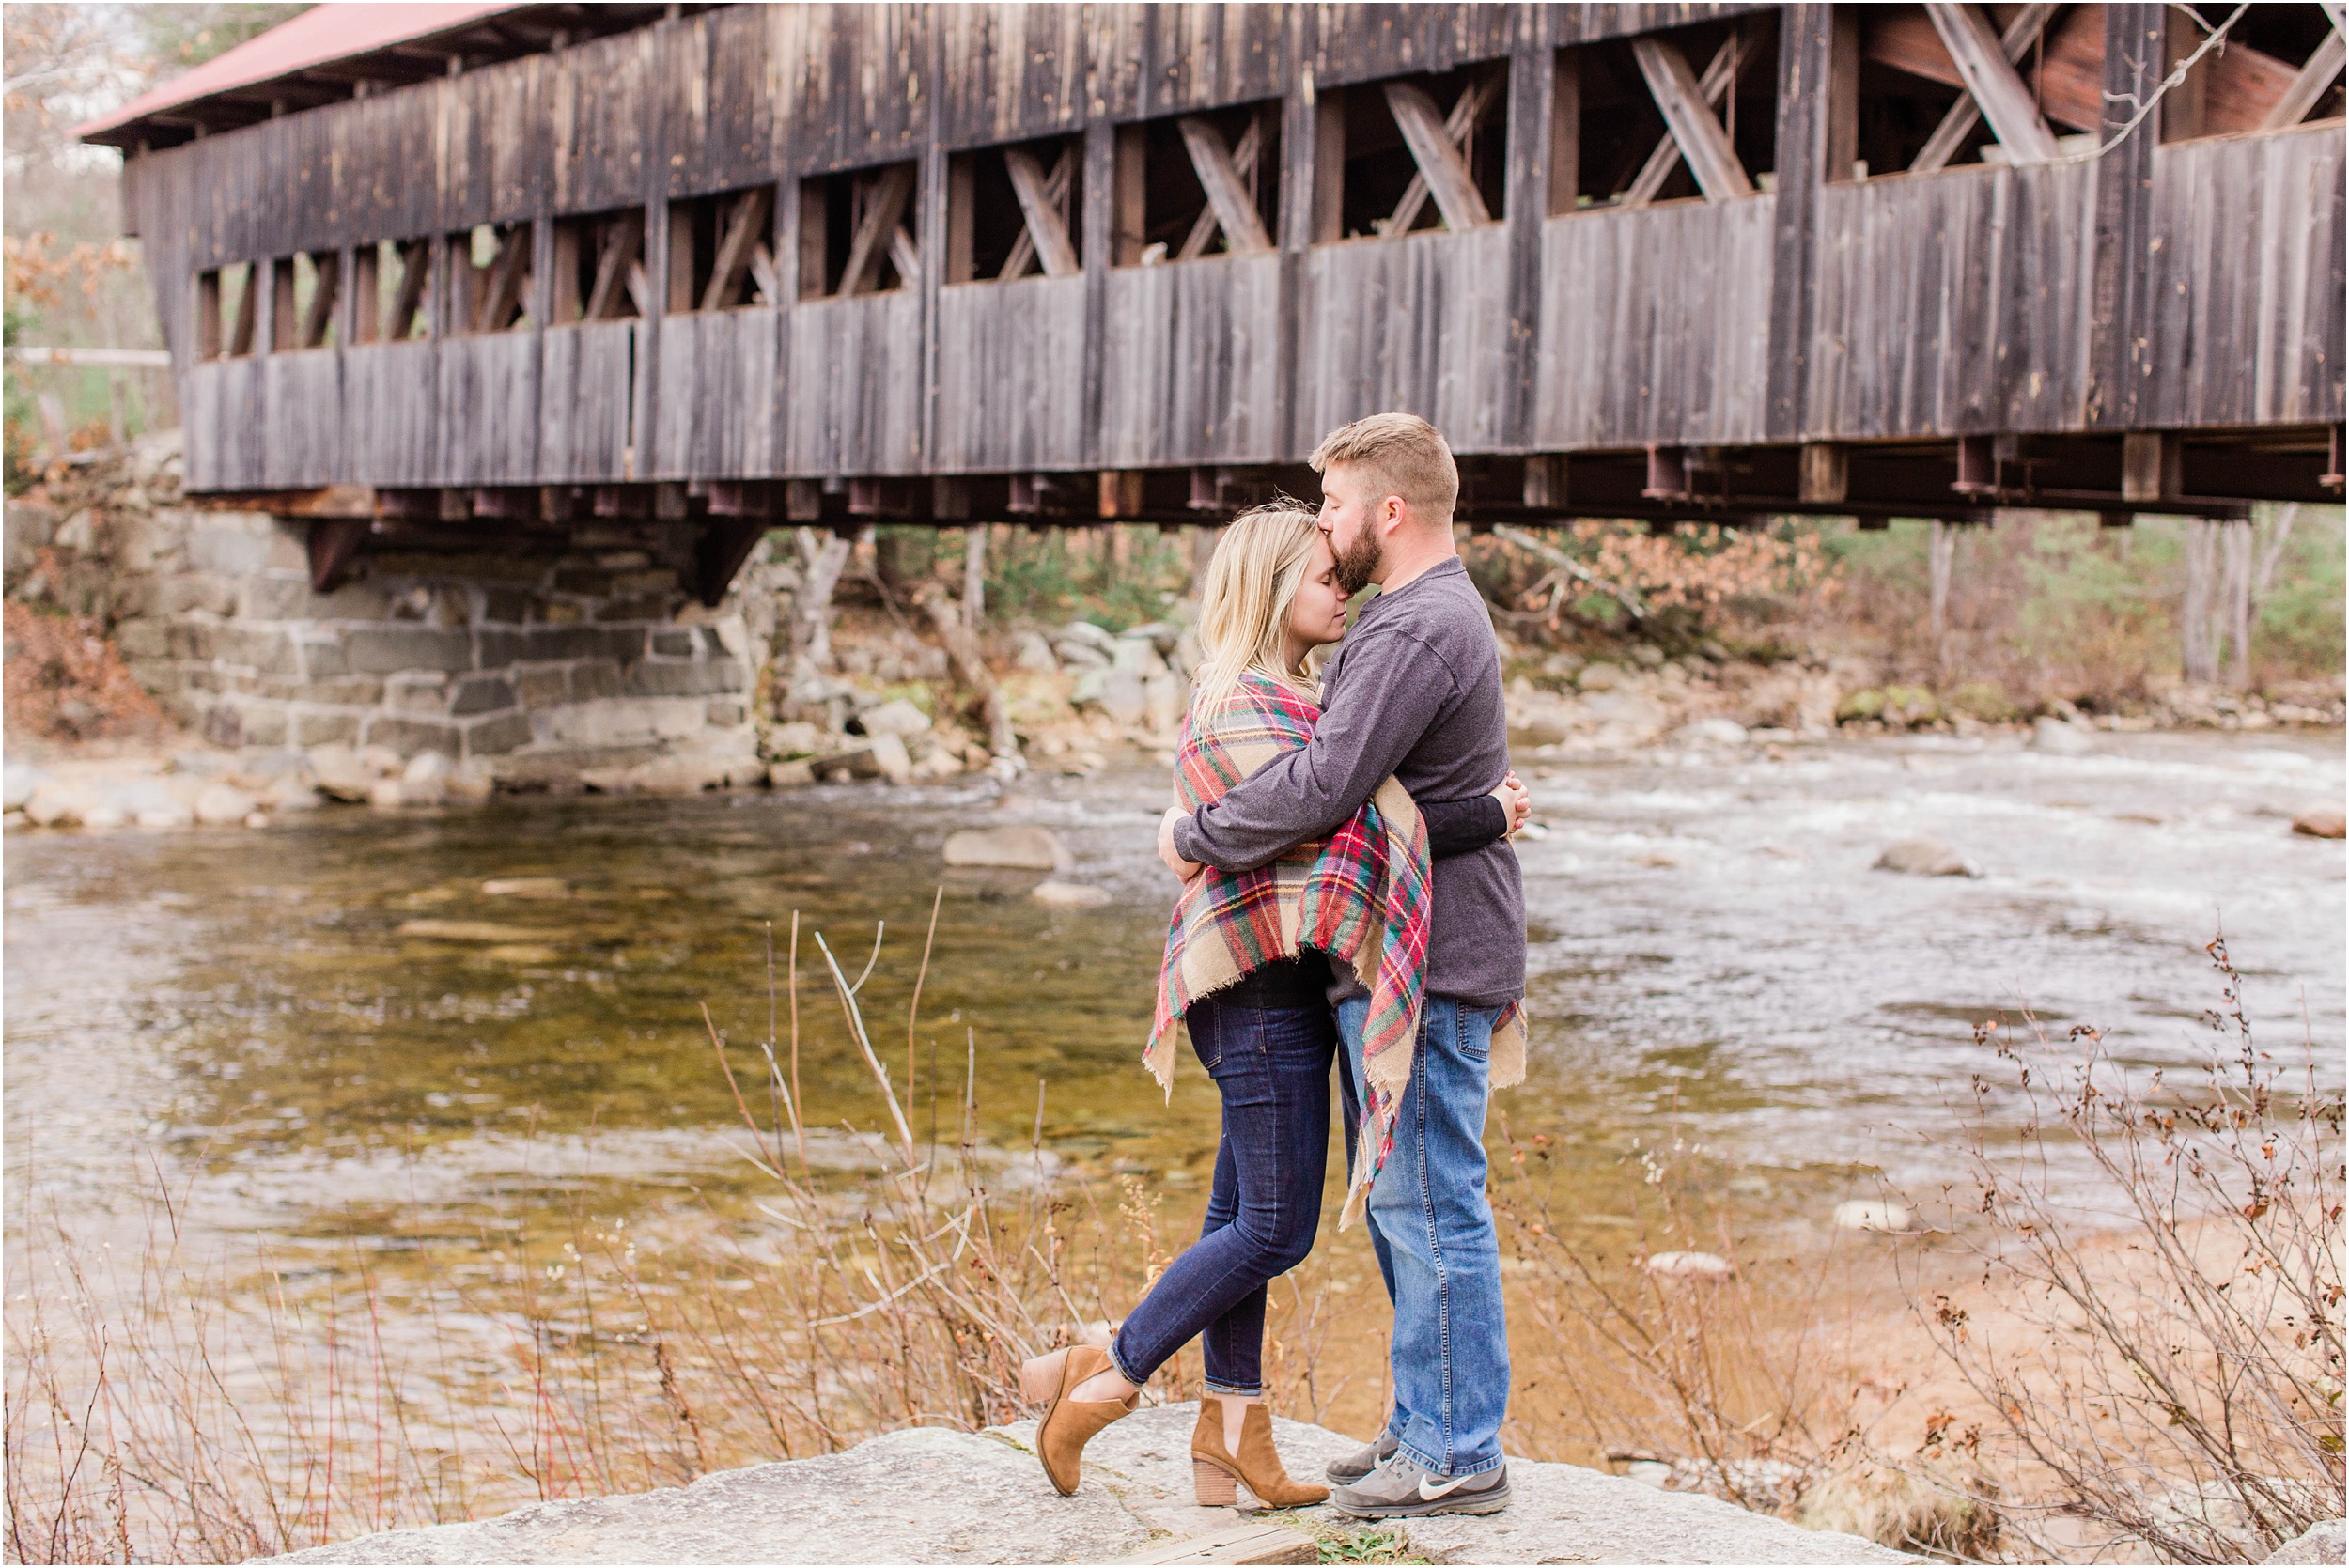
[[[1320,709],[1264,676],[1203,714],[1184,718],[1174,758],[1174,803],[1196,812],[1285,751],[1313,739]],[[1426,995],[1428,831],[1409,791],[1393,777],[1337,833],[1301,843],[1257,871],[1207,866],[1184,887],[1158,967],[1158,1009],[1142,1054],[1158,1084],[1174,1087],[1174,1021],[1203,995],[1299,948],[1351,962],[1369,988],[1362,1026],[1365,1110],[1348,1171],[1353,1183],[1339,1230],[1353,1223],[1395,1145],[1395,1110],[1412,1082],[1419,1009]],[[1492,1084],[1525,1077],[1522,1005],[1494,1026]]]

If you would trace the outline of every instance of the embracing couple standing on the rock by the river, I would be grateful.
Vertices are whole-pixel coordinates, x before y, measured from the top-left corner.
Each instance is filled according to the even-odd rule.
[[[1386,1519],[1508,1505],[1508,1329],[1485,1199],[1485,1101],[1525,1075],[1525,890],[1506,836],[1501,662],[1452,545],[1459,469],[1426,420],[1384,413],[1315,448],[1320,514],[1240,514],[1207,568],[1205,662],[1158,852],[1184,880],[1146,1066],[1174,1021],[1224,1099],[1200,1239],[1106,1350],[1022,1368],[1036,1448],[1073,1493],[1085,1441],[1200,1338],[1203,1505],[1327,1498]],[[1346,601],[1379,596],[1346,631]],[[1308,655],[1339,643],[1315,683]],[[1367,1214],[1395,1307],[1395,1408],[1334,1491],[1297,1483],[1264,1406],[1266,1284],[1320,1223],[1330,1068],[1346,1117],[1341,1225]]]

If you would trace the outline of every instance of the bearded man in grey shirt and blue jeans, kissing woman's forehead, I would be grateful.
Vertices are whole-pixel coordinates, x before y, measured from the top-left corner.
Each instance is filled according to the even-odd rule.
[[[1327,838],[1388,775],[1419,800],[1461,800],[1508,772],[1492,617],[1452,545],[1452,448],[1426,420],[1381,413],[1332,432],[1311,462],[1339,587],[1381,592],[1322,674],[1313,742],[1193,815],[1167,812],[1158,852],[1177,876],[1198,864],[1250,871]],[[1330,1467],[1332,1507],[1362,1519],[1508,1505],[1508,1326],[1485,1199],[1485,1101],[1494,1026],[1525,995],[1515,850],[1499,840],[1435,861],[1433,906],[1412,1075],[1369,1195],[1395,1303],[1395,1411],[1362,1453]],[[1339,1005],[1355,1084],[1365,1014],[1362,998]]]

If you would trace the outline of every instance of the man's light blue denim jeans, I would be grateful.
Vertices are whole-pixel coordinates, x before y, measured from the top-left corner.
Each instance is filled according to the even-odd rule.
[[[1339,1002],[1346,1063],[1346,1148],[1360,1120],[1367,998]],[[1395,1413],[1388,1434],[1435,1474],[1501,1465],[1508,1415],[1508,1324],[1501,1242],[1485,1197],[1485,1101],[1499,1007],[1431,995],[1395,1148],[1369,1190],[1369,1244],[1395,1303]]]

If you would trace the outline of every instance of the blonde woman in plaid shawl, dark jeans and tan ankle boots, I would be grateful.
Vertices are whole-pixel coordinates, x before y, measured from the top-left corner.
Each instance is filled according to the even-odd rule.
[[[1207,566],[1207,657],[1177,761],[1184,810],[1311,739],[1320,709],[1306,660],[1344,634],[1346,594],[1313,512],[1276,502],[1233,519]],[[1492,843],[1522,807],[1515,775],[1489,796],[1431,805],[1388,779],[1327,843],[1184,885],[1144,1063],[1172,1084],[1182,1016],[1224,1096],[1214,1192],[1198,1244],[1160,1275],[1109,1350],[1073,1345],[1022,1368],[1022,1392],[1048,1406],[1036,1451],[1062,1495],[1076,1491],[1085,1441],[1132,1411],[1151,1373],[1193,1336],[1210,1394],[1191,1434],[1198,1502],[1231,1505],[1236,1481],[1268,1507],[1330,1495],[1290,1481],[1273,1451],[1261,1347],[1266,1284],[1306,1258],[1320,1223],[1332,993],[1367,988],[1374,1016],[1416,1028],[1428,857]]]

